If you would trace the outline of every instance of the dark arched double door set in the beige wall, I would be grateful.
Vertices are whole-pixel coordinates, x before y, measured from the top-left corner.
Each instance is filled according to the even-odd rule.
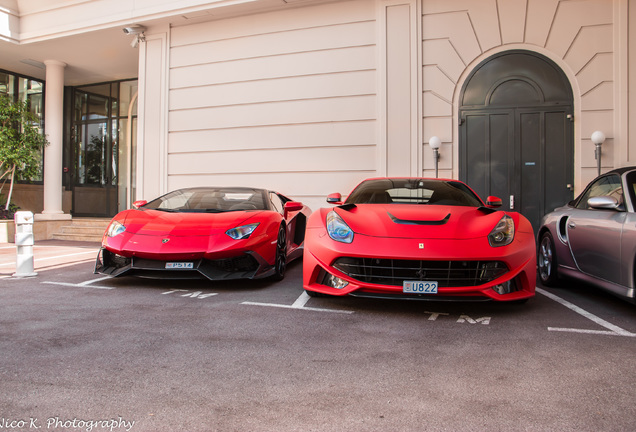
[[[535,231],[572,199],[572,89],[552,61],[530,51],[485,60],[462,89],[459,119],[460,179],[482,198],[502,198]]]

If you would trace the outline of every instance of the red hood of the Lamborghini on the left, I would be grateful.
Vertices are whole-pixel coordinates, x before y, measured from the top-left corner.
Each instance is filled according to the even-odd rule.
[[[160,210],[127,210],[116,217],[130,234],[149,236],[210,236],[248,223],[262,211],[179,213]]]

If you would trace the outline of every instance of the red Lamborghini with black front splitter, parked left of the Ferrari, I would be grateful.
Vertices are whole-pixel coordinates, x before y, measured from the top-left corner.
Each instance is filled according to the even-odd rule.
[[[308,207],[252,188],[179,189],[138,201],[104,233],[95,273],[282,279],[302,255]]]

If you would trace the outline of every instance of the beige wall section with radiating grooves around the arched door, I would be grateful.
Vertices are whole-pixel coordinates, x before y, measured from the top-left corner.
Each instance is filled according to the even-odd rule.
[[[570,79],[575,105],[575,192],[596,175],[590,136],[601,130],[603,170],[628,163],[617,147],[614,23],[617,0],[424,0],[424,143],[443,141],[441,173],[458,176],[457,101],[472,69],[491,55],[509,50],[536,51],[553,60]],[[617,14],[620,15],[620,14]],[[423,150],[425,174],[432,151]]]

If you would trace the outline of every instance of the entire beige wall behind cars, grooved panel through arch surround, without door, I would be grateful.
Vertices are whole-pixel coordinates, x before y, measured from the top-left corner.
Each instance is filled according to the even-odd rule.
[[[457,178],[461,88],[512,49],[550,58],[570,81],[578,193],[596,175],[595,130],[607,136],[604,171],[635,158],[634,1],[351,0],[151,29],[138,198],[253,185],[317,208],[369,176],[433,175],[433,135],[440,176]]]

